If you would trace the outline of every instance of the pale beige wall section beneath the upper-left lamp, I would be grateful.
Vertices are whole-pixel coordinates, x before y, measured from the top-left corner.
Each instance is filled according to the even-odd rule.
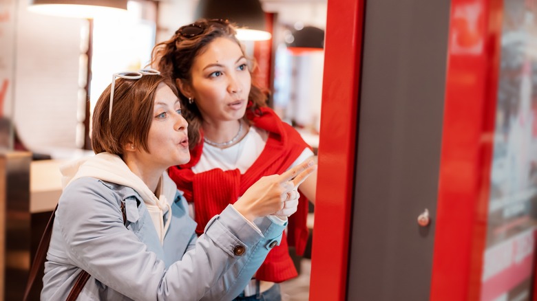
[[[74,148],[87,21],[34,14],[27,2],[17,1],[12,120],[32,149]]]

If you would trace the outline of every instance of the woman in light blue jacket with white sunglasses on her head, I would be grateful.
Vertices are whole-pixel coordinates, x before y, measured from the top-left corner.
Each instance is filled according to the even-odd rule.
[[[94,110],[96,155],[61,170],[42,300],[66,300],[78,283],[77,300],[231,300],[242,291],[280,242],[297,209],[293,190],[316,166],[253,183],[198,237],[167,173],[190,159],[187,126],[169,78],[114,74]]]

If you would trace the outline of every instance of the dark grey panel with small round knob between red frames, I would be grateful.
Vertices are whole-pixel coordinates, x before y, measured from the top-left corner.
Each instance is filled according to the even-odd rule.
[[[366,5],[348,300],[430,296],[449,8]]]

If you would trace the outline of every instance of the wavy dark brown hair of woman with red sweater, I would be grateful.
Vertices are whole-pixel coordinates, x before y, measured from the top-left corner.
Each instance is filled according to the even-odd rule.
[[[164,42],[158,43],[151,52],[151,66],[158,69],[162,76],[170,78],[172,82],[180,79],[187,84],[191,83],[191,69],[194,59],[202,54],[215,38],[229,38],[237,43],[244,53],[244,47],[235,36],[237,34],[235,25],[222,20],[207,20],[199,19],[191,26],[199,27],[201,33],[194,36],[183,36],[180,32],[181,28],[176,31],[173,36]],[[266,107],[268,91],[257,87],[254,84],[253,70],[255,69],[255,60],[249,60],[249,69],[252,76],[252,84],[249,94],[249,107],[247,110],[258,114],[260,107]],[[189,104],[188,98],[179,91],[179,99],[181,101],[182,115],[189,123],[189,147],[194,148],[201,142],[200,129],[202,125],[202,115],[195,103]],[[243,120],[249,122],[244,114]]]

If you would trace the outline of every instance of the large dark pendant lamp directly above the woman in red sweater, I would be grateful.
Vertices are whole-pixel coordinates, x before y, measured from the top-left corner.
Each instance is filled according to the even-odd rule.
[[[237,38],[264,41],[272,37],[266,31],[265,13],[259,0],[200,0],[196,19],[227,19],[238,25]]]

